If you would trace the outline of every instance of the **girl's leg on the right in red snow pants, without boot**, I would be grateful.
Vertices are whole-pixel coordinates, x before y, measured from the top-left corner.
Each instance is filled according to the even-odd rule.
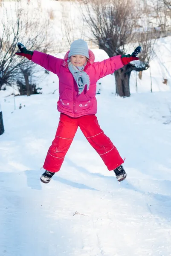
[[[88,142],[100,155],[109,171],[116,169],[124,160],[111,140],[104,134],[95,115],[81,116],[79,126]]]

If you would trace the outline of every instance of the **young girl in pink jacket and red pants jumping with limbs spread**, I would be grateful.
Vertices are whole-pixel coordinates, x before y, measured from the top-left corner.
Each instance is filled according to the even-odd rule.
[[[75,40],[64,59],[38,51],[28,51],[23,44],[17,44],[20,52],[46,70],[52,71],[59,78],[58,111],[61,112],[59,125],[43,165],[45,172],[41,175],[43,183],[49,183],[58,172],[64,157],[70,148],[78,126],[88,142],[97,151],[109,171],[114,171],[118,181],[125,180],[126,172],[122,166],[124,160],[110,139],[101,130],[96,113],[96,83],[130,61],[138,60],[132,55],[118,55],[104,61],[94,62],[94,54],[87,43]]]

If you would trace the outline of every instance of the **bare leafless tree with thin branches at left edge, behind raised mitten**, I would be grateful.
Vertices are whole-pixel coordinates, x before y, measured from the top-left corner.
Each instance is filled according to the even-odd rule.
[[[19,79],[26,80],[25,74],[31,76],[34,70],[32,61],[15,55],[18,51],[17,42],[21,41],[27,49],[46,52],[52,41],[48,40],[49,21],[46,17],[41,19],[40,10],[29,9],[29,5],[22,6],[20,0],[11,3],[7,9],[5,1],[0,7],[0,90],[2,86],[13,86]],[[41,22],[40,22],[41,20]],[[28,80],[27,80],[28,81]],[[29,95],[29,92],[28,94]]]

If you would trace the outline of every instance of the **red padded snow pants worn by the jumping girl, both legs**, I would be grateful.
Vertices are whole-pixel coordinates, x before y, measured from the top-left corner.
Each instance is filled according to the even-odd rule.
[[[46,155],[44,169],[49,172],[58,172],[60,170],[78,126],[109,171],[124,163],[116,147],[101,130],[95,115],[73,118],[61,113],[55,139],[52,141],[52,145]]]

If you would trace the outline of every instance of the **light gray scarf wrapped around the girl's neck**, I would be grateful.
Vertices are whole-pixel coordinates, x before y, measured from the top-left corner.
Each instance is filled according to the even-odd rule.
[[[87,85],[87,90],[90,86],[90,79],[86,72],[84,72],[84,67],[86,66],[87,62],[81,66],[76,67],[74,66],[70,60],[68,60],[68,68],[72,73],[77,85],[78,85],[78,94],[81,94],[84,91],[85,86]]]

